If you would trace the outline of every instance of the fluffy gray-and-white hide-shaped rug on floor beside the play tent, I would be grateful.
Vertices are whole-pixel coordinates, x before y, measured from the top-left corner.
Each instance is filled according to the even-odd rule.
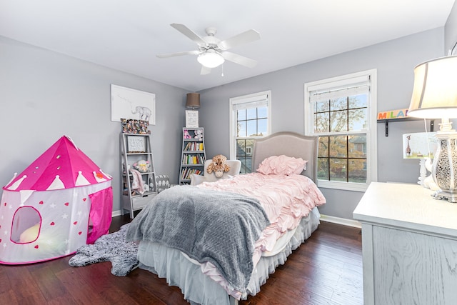
[[[94,244],[81,246],[76,254],[70,259],[72,267],[87,266],[111,261],[111,274],[126,276],[138,266],[136,259],[138,245],[134,242],[126,242],[126,231],[130,224],[124,224],[119,231],[101,236]]]

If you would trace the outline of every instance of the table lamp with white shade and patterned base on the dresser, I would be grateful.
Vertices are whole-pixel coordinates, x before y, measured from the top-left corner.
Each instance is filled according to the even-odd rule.
[[[439,187],[436,198],[457,203],[457,132],[449,121],[457,118],[457,56],[432,59],[414,68],[408,116],[441,118],[431,173]]]

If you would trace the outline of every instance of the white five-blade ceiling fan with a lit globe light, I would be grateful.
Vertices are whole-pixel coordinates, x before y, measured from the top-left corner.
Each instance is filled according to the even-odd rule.
[[[214,36],[217,30],[213,27],[206,28],[206,36],[201,37],[184,24],[170,25],[191,39],[191,41],[194,41],[198,46],[198,50],[156,55],[161,59],[181,55],[198,55],[197,61],[201,64],[201,74],[209,74],[212,68],[220,66],[225,60],[247,66],[248,68],[253,68],[257,64],[257,61],[253,59],[248,59],[247,57],[226,50],[260,39],[258,31],[250,29],[229,39],[220,40]]]

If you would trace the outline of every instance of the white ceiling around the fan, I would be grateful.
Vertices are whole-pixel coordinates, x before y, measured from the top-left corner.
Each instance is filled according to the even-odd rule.
[[[0,0],[0,35],[102,66],[200,91],[344,51],[444,26],[455,0]],[[200,36],[214,26],[227,39],[248,29],[258,41],[200,75],[196,56],[158,59],[196,44],[170,24]]]

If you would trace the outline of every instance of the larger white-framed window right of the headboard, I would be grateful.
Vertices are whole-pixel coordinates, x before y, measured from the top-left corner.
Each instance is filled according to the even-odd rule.
[[[305,133],[318,136],[318,186],[377,180],[376,69],[305,84]]]

